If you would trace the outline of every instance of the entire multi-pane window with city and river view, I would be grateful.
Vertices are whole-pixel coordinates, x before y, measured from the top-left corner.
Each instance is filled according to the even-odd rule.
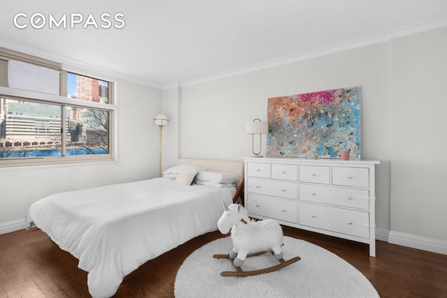
[[[112,160],[114,84],[17,55],[0,49],[0,167]]]

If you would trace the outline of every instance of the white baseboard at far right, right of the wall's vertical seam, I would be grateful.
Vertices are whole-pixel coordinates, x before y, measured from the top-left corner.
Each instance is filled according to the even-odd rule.
[[[390,231],[388,242],[447,255],[447,241]]]

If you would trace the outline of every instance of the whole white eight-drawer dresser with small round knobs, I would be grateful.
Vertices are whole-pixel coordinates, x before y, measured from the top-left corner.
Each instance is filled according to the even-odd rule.
[[[369,243],[375,257],[375,165],[379,160],[245,157],[252,218]]]

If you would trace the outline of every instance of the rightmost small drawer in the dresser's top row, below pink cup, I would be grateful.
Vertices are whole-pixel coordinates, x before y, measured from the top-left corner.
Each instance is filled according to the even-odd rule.
[[[332,184],[355,187],[369,187],[369,169],[333,166]]]

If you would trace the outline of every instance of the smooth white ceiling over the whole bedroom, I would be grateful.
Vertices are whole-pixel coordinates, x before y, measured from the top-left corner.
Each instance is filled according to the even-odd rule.
[[[161,88],[447,26],[446,0],[3,0],[1,6],[0,47]],[[17,17],[26,28],[15,26],[17,13],[27,15]],[[31,25],[36,13],[46,21],[41,29]],[[111,15],[107,29],[103,13]],[[117,13],[124,15],[117,15],[122,29],[114,27],[122,25]],[[50,17],[59,22],[64,14],[65,28],[50,29]],[[82,22],[71,28],[79,15]],[[38,19],[36,27],[43,24]]]

